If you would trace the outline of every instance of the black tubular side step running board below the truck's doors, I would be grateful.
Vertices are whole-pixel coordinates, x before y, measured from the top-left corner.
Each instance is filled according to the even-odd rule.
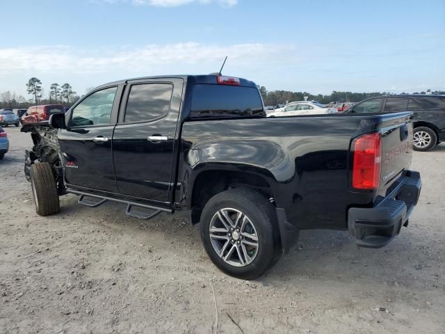
[[[127,216],[131,216],[139,219],[151,219],[160,214],[161,212],[165,212],[167,214],[172,214],[172,209],[165,209],[165,207],[155,207],[153,205],[145,205],[140,204],[138,202],[131,202],[129,200],[119,200],[117,198],[111,198],[106,196],[93,195],[91,193],[85,193],[83,191],[77,191],[72,189],[67,189],[67,193],[74,193],[74,195],[79,195],[79,200],[77,201],[81,205],[85,205],[87,207],[99,207],[99,205],[104,204],[104,202],[111,200],[113,202],[120,202],[127,204],[127,210],[125,214]],[[96,199],[96,200],[95,200]],[[144,212],[137,209],[132,209],[133,207],[139,207],[142,209],[148,209],[149,212]]]

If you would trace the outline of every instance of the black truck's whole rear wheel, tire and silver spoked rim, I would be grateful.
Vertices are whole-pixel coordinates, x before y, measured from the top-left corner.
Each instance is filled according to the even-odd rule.
[[[277,216],[268,200],[250,189],[229,189],[207,202],[201,239],[210,259],[236,278],[261,276],[281,254]]]

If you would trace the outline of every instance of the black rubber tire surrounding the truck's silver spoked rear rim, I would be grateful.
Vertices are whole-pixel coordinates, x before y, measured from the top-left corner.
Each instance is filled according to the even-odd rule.
[[[245,214],[245,216],[248,216],[257,234],[258,244],[257,248],[255,248],[257,249],[257,253],[252,262],[243,265],[243,267],[236,267],[235,265],[225,262],[225,260],[218,255],[216,249],[213,248],[210,237],[211,221],[220,209],[225,208],[237,210],[238,212]],[[275,209],[267,198],[261,195],[261,193],[250,189],[229,189],[213,196],[202,211],[200,232],[202,244],[211,261],[221,271],[236,278],[252,280],[261,276],[268,269],[273,267],[282,253]],[[241,232],[243,231],[241,230]],[[232,239],[232,237],[230,237],[230,239]],[[213,240],[215,241],[215,239]],[[227,242],[229,243],[229,240],[227,240]],[[225,244],[225,241],[223,240],[221,243]],[[238,241],[235,241],[235,244],[236,243],[238,243]],[[228,244],[226,249],[229,249],[232,246],[234,246],[234,244]],[[239,247],[242,247],[242,245]],[[224,254],[224,251],[222,253]],[[238,253],[235,253],[234,251],[234,254],[235,255],[232,256],[238,257]],[[243,258],[244,260],[247,259],[245,255],[243,255]],[[248,261],[246,261],[246,263],[247,262]]]

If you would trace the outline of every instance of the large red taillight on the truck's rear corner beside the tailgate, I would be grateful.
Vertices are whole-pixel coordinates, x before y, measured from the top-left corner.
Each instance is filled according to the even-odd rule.
[[[382,136],[365,134],[353,142],[353,188],[378,189],[382,167]]]

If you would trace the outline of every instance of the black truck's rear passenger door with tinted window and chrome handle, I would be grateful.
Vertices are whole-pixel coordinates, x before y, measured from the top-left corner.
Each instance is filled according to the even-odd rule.
[[[113,134],[118,191],[168,204],[175,179],[174,154],[182,79],[129,81]]]

